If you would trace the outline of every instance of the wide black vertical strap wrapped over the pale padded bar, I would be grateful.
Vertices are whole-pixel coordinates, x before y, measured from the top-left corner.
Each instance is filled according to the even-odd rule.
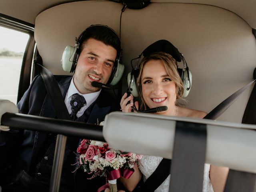
[[[202,191],[206,136],[205,124],[176,122],[169,191]]]

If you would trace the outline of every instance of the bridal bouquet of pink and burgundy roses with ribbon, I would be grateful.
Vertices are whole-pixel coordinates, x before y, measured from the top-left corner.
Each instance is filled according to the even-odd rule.
[[[102,191],[110,188],[116,192],[116,179],[123,176],[129,178],[134,172],[134,165],[142,156],[134,153],[122,152],[110,148],[106,142],[83,139],[77,149],[79,167],[91,174],[88,179],[104,176],[108,183],[98,189]]]

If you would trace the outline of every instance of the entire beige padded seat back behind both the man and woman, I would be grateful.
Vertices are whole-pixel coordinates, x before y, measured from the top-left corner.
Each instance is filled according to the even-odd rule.
[[[127,90],[125,76],[131,69],[130,60],[159,39],[172,42],[188,62],[193,76],[188,108],[210,112],[252,80],[256,40],[252,28],[240,16],[211,5],[158,2],[142,10],[127,8],[122,15],[122,58],[126,67],[123,93]],[[91,24],[108,25],[119,34],[121,9],[122,4],[114,2],[84,1],[40,13],[35,40],[44,65],[54,74],[67,74],[60,64],[66,45],[73,46],[75,36]],[[241,122],[251,89],[219,120]]]

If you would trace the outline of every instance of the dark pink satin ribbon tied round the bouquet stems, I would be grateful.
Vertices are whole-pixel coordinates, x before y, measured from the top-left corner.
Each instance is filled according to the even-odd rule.
[[[114,169],[114,170],[110,171],[107,174],[107,179],[108,180],[114,180],[114,179],[120,178],[121,176],[128,179],[133,174],[133,172],[134,172],[133,168],[131,168],[131,169],[122,168],[121,170],[120,169],[118,169],[118,170]],[[109,188],[108,183],[101,186],[100,188],[98,188],[97,192],[101,192],[101,191],[105,190],[106,188]]]

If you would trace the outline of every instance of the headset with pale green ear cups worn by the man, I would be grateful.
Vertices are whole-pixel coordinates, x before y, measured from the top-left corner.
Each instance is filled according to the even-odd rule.
[[[86,35],[88,36],[88,33],[90,33],[88,31],[93,28],[95,28],[95,29],[98,28],[97,30],[110,29],[112,32],[114,32],[114,34],[116,34],[116,32],[112,28],[110,28],[106,25],[91,25],[88,28],[86,28],[86,30],[84,30],[78,36],[78,38],[76,38],[75,46],[70,46],[70,45],[66,46],[66,48],[62,54],[62,60],[61,60],[62,68],[64,71],[67,71],[67,72],[75,71],[78,57],[81,52],[80,47],[79,47],[80,43],[82,43],[81,40],[83,39],[83,36],[85,36],[85,37],[86,37]],[[89,34],[89,36],[90,36],[90,34]],[[120,41],[119,36],[117,34],[116,34],[116,36]],[[121,41],[120,41],[120,44],[121,44]],[[113,66],[110,78],[108,80],[108,84],[110,84],[112,86],[114,86],[118,83],[118,81],[121,79],[122,74],[124,72],[124,65],[119,63],[120,56],[121,56],[121,50],[116,50],[116,51],[117,51],[116,60],[114,62],[114,66]]]

